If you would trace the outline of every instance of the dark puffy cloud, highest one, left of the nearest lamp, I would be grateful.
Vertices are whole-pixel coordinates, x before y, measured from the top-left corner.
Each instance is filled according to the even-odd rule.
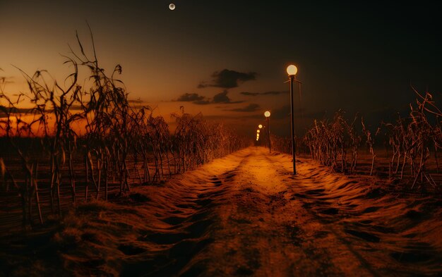
[[[215,71],[212,74],[211,82],[200,82],[198,88],[203,87],[222,87],[230,89],[232,87],[238,87],[239,82],[246,82],[250,80],[256,80],[256,73],[242,73],[235,70],[223,69],[221,71]]]

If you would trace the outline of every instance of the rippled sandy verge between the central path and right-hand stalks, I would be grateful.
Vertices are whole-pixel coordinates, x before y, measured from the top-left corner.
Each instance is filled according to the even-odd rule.
[[[290,175],[287,155],[270,160]],[[385,180],[327,173],[313,161],[297,161],[299,174],[285,180],[296,184],[292,200],[338,239],[374,276],[436,276],[442,273],[441,230],[437,198],[392,195]],[[380,185],[376,185],[379,183]],[[429,216],[431,211],[434,216]],[[326,243],[323,243],[326,245]],[[327,248],[333,249],[335,245]]]

